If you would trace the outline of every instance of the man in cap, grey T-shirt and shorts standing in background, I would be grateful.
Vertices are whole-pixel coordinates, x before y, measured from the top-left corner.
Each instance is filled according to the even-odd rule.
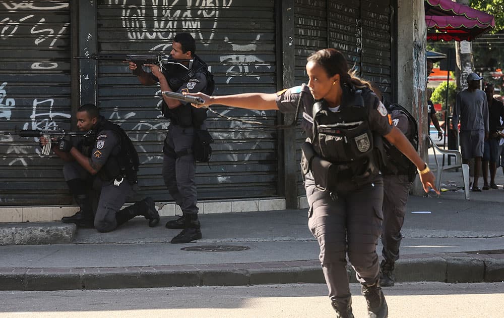
[[[457,94],[453,110],[453,131],[457,133],[460,120],[460,150],[462,163],[468,164],[474,158],[474,182],[472,191],[480,192],[478,178],[485,140],[488,138],[488,101],[486,94],[479,89],[482,79],[476,73],[467,76],[468,88]]]

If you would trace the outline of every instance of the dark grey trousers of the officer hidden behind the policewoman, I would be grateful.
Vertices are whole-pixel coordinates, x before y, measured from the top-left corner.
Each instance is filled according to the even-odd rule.
[[[406,203],[412,183],[406,175],[383,176],[382,256],[388,263],[399,259]]]

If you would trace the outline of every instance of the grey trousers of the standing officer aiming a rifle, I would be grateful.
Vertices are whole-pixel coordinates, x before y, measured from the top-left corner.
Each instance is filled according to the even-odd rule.
[[[194,128],[170,124],[164,140],[163,180],[175,203],[184,214],[197,214],[196,163],[194,155],[177,155],[193,148]]]

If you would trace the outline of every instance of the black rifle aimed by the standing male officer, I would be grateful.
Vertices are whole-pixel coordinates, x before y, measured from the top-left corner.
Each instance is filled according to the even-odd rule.
[[[163,71],[164,68],[163,65],[166,64],[176,64],[188,71],[193,67],[193,61],[194,61],[194,59],[191,60],[173,59],[169,55],[157,54],[157,53],[147,53],[147,54],[93,53],[88,57],[75,57],[75,59],[92,59],[97,61],[110,61],[110,62],[133,62],[138,66],[143,66],[144,64],[155,64],[159,66],[160,72]],[[184,63],[188,63],[188,66],[185,66]],[[133,71],[133,75],[141,75],[141,74],[142,74],[141,68],[137,68],[135,71]]]

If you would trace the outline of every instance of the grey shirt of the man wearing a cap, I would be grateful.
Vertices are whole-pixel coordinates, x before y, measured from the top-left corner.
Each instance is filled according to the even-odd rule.
[[[460,120],[460,130],[484,130],[488,132],[488,101],[484,91],[464,89],[457,94],[453,110],[453,127]]]

